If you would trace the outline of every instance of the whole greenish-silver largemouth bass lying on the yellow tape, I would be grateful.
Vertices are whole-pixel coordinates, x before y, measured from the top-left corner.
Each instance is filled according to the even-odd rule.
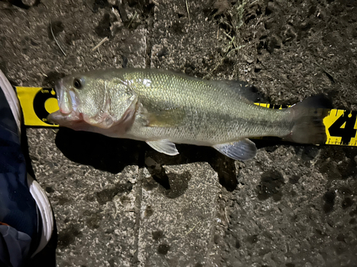
[[[175,144],[209,146],[236,160],[256,156],[253,137],[326,142],[323,117],[331,102],[315,95],[274,110],[239,80],[203,80],[171,70],[121,68],[75,73],[56,82],[59,110],[47,120],[73,130],[146,142],[166,155]]]

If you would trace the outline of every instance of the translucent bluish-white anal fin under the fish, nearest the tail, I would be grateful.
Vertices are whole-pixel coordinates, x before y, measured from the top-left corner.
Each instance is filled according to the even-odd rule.
[[[223,155],[236,160],[247,160],[256,155],[256,144],[248,139],[233,143],[213,145],[213,147]]]

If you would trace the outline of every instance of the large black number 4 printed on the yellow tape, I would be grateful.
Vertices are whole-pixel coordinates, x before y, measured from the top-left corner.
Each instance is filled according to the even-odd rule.
[[[343,112],[336,122],[333,122],[328,128],[331,136],[342,137],[341,145],[348,145],[351,138],[356,137],[357,130],[354,129],[356,124],[357,111]],[[343,125],[345,127],[341,128]]]

